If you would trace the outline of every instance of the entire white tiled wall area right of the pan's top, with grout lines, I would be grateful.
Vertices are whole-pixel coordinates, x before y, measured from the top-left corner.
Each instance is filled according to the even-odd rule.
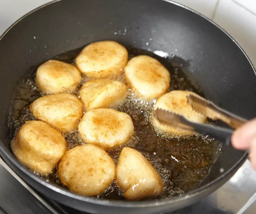
[[[226,30],[256,65],[255,0],[174,0],[212,19]]]

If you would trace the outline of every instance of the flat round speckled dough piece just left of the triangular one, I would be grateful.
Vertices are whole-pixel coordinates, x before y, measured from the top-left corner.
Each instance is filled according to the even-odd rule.
[[[59,164],[60,181],[85,196],[102,193],[115,177],[115,164],[101,148],[86,144],[68,150]]]

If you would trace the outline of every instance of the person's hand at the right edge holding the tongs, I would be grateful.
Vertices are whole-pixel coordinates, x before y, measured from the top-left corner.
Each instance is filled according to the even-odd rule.
[[[249,150],[252,167],[256,169],[256,118],[235,130],[231,143],[235,149]]]

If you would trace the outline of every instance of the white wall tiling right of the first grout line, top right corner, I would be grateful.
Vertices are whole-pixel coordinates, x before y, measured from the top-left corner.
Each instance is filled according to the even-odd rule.
[[[242,46],[256,65],[256,1],[220,0],[213,21]]]

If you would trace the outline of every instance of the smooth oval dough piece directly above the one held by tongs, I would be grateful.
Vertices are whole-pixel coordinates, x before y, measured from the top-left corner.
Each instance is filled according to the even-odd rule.
[[[150,56],[135,56],[127,63],[125,77],[129,84],[145,98],[157,98],[170,86],[169,71]]]

